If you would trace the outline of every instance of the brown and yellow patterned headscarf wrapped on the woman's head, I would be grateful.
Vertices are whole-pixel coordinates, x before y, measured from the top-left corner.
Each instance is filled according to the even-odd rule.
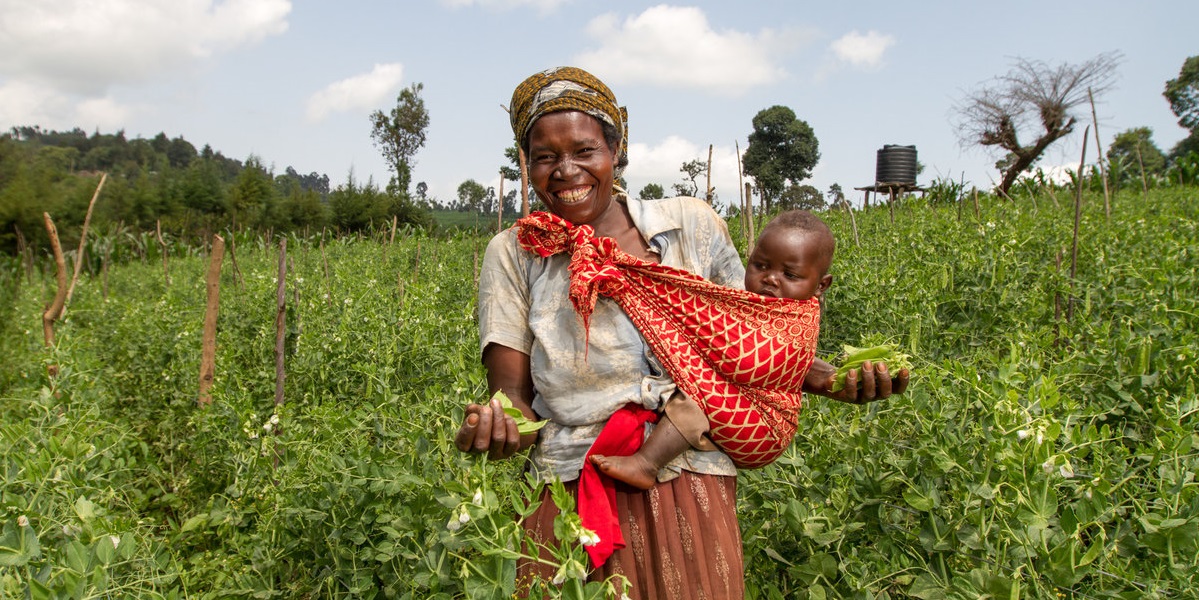
[[[628,113],[596,76],[578,67],[556,67],[536,73],[512,92],[508,115],[517,144],[525,148],[532,124],[544,114],[580,110],[611,125],[620,133],[615,176],[628,164]]]

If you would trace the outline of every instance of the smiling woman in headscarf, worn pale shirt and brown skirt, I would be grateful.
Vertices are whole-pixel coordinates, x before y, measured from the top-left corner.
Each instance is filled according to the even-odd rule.
[[[745,294],[728,289],[743,284],[745,269],[724,221],[697,198],[628,198],[616,185],[627,162],[625,110],[585,71],[537,73],[517,88],[511,107],[534,190],[553,215],[526,220],[488,244],[478,277],[480,348],[489,390],[502,391],[512,408],[546,425],[522,434],[496,400],[469,404],[456,444],[492,458],[531,449],[538,479],[566,482],[584,527],[596,534],[586,547],[589,578],[620,576],[628,598],[743,598],[736,466],[728,455],[710,444],[691,448],[647,490],[616,485],[596,466],[601,455],[629,455],[640,446],[675,384],[663,377],[659,346],[651,346],[659,332],[643,335],[643,314],[631,317],[623,298],[597,299],[604,283],[589,286],[619,277],[611,270],[620,262],[687,271],[677,277]],[[542,217],[565,222],[549,236],[568,238],[576,250],[528,245],[528,229]],[[613,264],[586,271],[576,254],[598,247]],[[580,276],[584,271],[590,275]],[[831,368],[821,373],[831,379]],[[880,395],[890,390],[881,388]],[[530,536],[553,540],[556,514],[547,488],[525,521]],[[518,564],[518,577],[549,581],[555,568],[544,558]]]

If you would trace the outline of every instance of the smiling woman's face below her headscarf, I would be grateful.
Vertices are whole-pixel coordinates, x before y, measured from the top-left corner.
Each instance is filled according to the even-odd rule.
[[[532,187],[550,212],[574,224],[592,223],[613,206],[615,156],[586,113],[549,113],[529,131]]]

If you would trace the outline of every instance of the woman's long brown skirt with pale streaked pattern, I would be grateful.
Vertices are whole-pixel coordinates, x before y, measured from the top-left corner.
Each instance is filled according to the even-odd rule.
[[[625,547],[589,578],[622,575],[632,588],[625,594],[633,600],[741,600],[745,571],[736,485],[735,476],[686,470],[646,492],[617,484]],[[577,494],[578,481],[566,487]],[[541,500],[526,524],[531,538],[546,542],[554,539],[558,506],[548,488]],[[517,565],[517,581],[535,576],[549,581],[554,569],[532,562]]]

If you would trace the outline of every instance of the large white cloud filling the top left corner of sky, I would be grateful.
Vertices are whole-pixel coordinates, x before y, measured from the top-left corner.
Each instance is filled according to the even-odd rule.
[[[289,0],[0,0],[0,76],[101,95],[287,30]]]

